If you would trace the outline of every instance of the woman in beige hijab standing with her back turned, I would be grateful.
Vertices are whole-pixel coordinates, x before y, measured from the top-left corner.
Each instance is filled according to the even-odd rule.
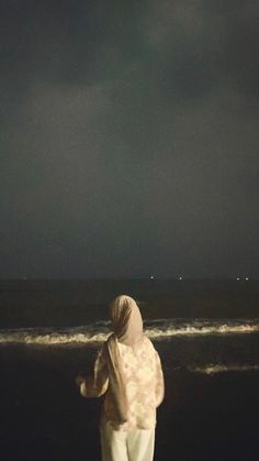
[[[101,416],[102,461],[151,461],[156,408],[164,399],[160,359],[143,333],[135,300],[119,296],[111,304],[113,333],[103,343],[93,377],[78,376],[85,397],[105,394]]]

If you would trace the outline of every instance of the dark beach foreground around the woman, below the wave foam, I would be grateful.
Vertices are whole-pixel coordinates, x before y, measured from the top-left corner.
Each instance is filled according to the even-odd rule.
[[[257,461],[259,373],[172,370],[158,343],[166,398],[158,409],[156,461]],[[0,452],[3,461],[99,461],[101,399],[85,399],[75,376],[94,348],[3,347]]]

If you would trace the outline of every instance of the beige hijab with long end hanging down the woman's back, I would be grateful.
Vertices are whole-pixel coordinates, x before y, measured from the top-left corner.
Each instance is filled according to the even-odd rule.
[[[136,301],[130,296],[116,297],[111,304],[112,330],[106,342],[110,388],[114,399],[116,422],[127,421],[128,405],[125,393],[117,341],[137,348],[143,341],[143,320]]]

